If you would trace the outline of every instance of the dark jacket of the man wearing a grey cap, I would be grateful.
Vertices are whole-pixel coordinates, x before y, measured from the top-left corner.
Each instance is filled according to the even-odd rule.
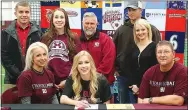
[[[113,35],[113,40],[116,46],[116,71],[121,76],[130,77],[130,62],[132,50],[136,46],[133,36],[133,24],[129,19],[125,20],[124,25],[120,26]],[[161,40],[159,30],[151,25],[152,40],[158,43]]]

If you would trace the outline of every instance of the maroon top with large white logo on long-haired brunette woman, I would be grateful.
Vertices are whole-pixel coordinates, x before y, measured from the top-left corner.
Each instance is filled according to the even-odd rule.
[[[80,42],[76,40],[76,51],[81,50]],[[68,37],[63,34],[57,36],[49,45],[48,67],[55,77],[55,84],[65,80],[72,67],[73,58],[69,56]]]

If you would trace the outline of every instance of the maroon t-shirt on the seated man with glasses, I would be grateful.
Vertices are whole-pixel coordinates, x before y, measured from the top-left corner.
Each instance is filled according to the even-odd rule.
[[[139,98],[176,94],[187,97],[187,67],[175,63],[168,72],[161,72],[159,64],[149,68],[139,89]]]

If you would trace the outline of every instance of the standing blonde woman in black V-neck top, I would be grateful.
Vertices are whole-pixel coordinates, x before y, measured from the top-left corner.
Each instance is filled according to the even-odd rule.
[[[133,34],[136,46],[132,53],[132,84],[130,88],[137,99],[142,76],[148,68],[157,64],[157,59],[155,55],[156,44],[152,41],[149,22],[145,19],[138,19],[134,24]]]

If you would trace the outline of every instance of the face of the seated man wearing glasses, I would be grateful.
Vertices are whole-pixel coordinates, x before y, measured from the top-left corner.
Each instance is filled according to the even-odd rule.
[[[167,45],[157,47],[156,56],[161,66],[168,66],[174,62],[175,52]]]

